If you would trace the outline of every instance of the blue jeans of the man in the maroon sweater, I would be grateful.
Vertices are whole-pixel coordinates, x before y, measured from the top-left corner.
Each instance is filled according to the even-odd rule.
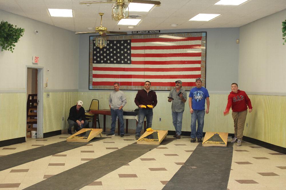
[[[138,114],[138,124],[136,126],[136,135],[140,136],[142,130],[142,124],[144,122],[144,118],[146,117],[147,125],[146,128],[152,127],[152,119],[153,119],[153,109],[139,108]]]

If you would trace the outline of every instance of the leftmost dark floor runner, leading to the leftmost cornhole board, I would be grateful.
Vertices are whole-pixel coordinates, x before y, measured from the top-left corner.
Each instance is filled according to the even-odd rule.
[[[61,142],[49,144],[46,146],[41,146],[41,147],[17,152],[14,154],[1,156],[0,157],[0,163],[5,163],[5,164],[0,164],[0,171],[11,168],[11,167],[19,166],[21,164],[25,164],[27,162],[38,160],[38,159],[44,158],[46,156],[51,156],[53,154],[58,154],[60,152],[65,152],[67,150],[72,150],[74,148],[85,146],[88,143],[98,141],[98,140],[102,140],[102,139],[104,139],[104,137],[103,138],[100,138],[100,137],[94,138],[90,142],[61,141]]]

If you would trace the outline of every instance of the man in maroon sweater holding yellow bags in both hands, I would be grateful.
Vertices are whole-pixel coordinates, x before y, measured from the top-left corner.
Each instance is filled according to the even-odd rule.
[[[157,95],[155,91],[150,90],[150,86],[151,82],[146,81],[144,84],[145,88],[138,90],[134,100],[135,104],[139,107],[138,124],[136,126],[135,135],[136,139],[140,137],[142,124],[145,117],[147,121],[147,128],[151,128],[152,126],[153,108],[157,105]],[[147,105],[151,106],[148,107]]]

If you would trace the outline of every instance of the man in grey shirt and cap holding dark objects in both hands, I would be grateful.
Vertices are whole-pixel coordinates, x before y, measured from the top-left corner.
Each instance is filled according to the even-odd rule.
[[[176,80],[175,88],[170,91],[168,102],[172,102],[173,125],[176,130],[174,137],[177,139],[181,138],[182,119],[186,100],[187,93],[182,89],[182,81]]]

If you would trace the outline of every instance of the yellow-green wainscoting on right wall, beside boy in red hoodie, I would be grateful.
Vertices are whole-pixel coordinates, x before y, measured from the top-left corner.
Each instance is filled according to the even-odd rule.
[[[286,97],[249,95],[249,98],[253,111],[247,114],[244,135],[286,148]]]

